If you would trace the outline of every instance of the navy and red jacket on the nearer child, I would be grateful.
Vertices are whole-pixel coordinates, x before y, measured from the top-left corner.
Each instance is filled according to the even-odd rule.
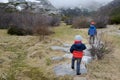
[[[74,58],[82,58],[83,50],[86,49],[86,46],[81,41],[75,41],[70,48],[70,52],[73,54]]]

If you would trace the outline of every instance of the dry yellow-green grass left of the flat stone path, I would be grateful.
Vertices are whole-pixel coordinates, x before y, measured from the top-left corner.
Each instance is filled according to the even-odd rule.
[[[73,43],[74,36],[81,34],[85,37],[86,30],[74,30],[62,24],[54,31],[55,34],[39,41],[39,36],[11,36],[6,30],[0,30],[0,80],[72,80],[70,76],[54,75],[53,67],[68,59],[51,61],[51,57],[64,54],[50,47]]]

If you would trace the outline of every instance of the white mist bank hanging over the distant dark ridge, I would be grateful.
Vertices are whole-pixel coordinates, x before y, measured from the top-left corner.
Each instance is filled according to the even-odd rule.
[[[57,9],[59,8],[86,8],[90,11],[96,11],[101,6],[104,6],[111,2],[111,0],[49,0]]]

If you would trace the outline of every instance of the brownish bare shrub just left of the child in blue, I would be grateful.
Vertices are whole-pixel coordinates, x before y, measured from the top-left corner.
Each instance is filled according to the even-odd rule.
[[[90,22],[90,18],[86,18],[83,16],[78,17],[78,18],[74,18],[72,27],[73,28],[88,28],[89,22]]]

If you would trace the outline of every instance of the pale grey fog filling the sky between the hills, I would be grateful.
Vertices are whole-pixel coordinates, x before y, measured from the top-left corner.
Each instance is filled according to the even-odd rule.
[[[49,0],[56,8],[85,7],[89,4],[105,5],[113,0]]]

